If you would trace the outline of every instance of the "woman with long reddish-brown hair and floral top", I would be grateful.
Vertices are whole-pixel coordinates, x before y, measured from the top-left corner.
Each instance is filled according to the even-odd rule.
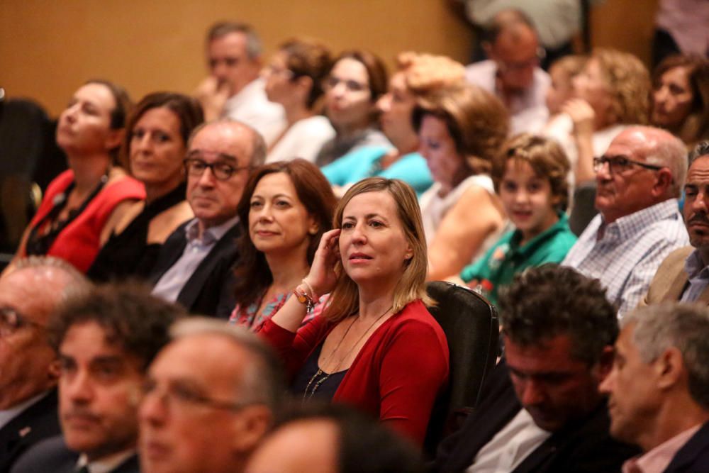
[[[310,271],[320,237],[332,228],[334,208],[330,184],[306,160],[252,172],[238,207],[237,305],[230,321],[257,328],[286,303]],[[316,304],[306,320],[321,308]]]

